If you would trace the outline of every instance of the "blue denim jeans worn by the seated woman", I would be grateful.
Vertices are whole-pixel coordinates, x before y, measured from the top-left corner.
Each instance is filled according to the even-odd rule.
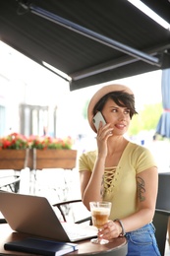
[[[128,240],[127,256],[161,256],[153,224],[145,224],[142,228],[127,232],[126,238]]]

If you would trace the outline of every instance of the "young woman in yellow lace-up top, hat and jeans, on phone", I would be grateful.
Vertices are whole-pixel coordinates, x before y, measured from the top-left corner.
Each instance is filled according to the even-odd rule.
[[[97,111],[106,121],[100,121],[98,131],[92,122]],[[112,202],[102,238],[125,235],[129,256],[154,256],[160,255],[152,224],[158,173],[150,152],[124,136],[134,114],[134,94],[123,85],[103,87],[92,96],[87,116],[97,150],[80,158],[81,193],[88,210],[90,201]]]

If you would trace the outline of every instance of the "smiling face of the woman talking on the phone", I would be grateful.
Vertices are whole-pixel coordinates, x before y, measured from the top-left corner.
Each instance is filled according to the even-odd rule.
[[[113,134],[123,135],[127,132],[131,121],[129,108],[119,106],[109,98],[102,109],[102,114],[106,122],[111,123],[111,127],[114,128]]]

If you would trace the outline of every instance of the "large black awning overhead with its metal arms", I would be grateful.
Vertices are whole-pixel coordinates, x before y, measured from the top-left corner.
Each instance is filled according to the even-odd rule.
[[[170,23],[168,0],[142,2]],[[170,32],[127,0],[1,1],[0,39],[66,73],[71,91],[170,67]]]

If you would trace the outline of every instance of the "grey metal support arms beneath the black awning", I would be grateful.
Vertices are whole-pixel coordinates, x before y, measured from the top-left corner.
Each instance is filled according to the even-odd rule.
[[[87,70],[83,70],[82,72],[78,72],[78,73],[74,73],[74,74],[70,74],[70,76],[72,77],[73,80],[80,80],[83,78],[86,78],[88,76],[91,75],[95,75],[98,74],[100,72],[104,72],[113,68],[117,68],[123,65],[127,65],[130,63],[133,63],[137,60],[142,60],[150,65],[155,65],[157,67],[161,67],[161,56],[160,57],[155,57],[154,55],[156,54],[154,53],[144,53],[140,50],[137,50],[133,47],[130,47],[126,44],[123,44],[119,41],[116,41],[114,39],[111,39],[105,35],[102,35],[100,33],[97,32],[93,32],[91,30],[86,29],[83,26],[80,26],[76,23],[73,23],[67,19],[64,19],[58,15],[55,15],[51,12],[48,12],[42,8],[39,8],[35,5],[32,4],[26,4],[23,3],[23,1],[20,2],[20,5],[26,9],[27,11],[30,11],[31,13],[38,15],[44,19],[47,19],[48,21],[51,21],[53,23],[56,23],[57,25],[60,25],[68,30],[74,31],[74,32],[78,32],[81,33],[83,35],[85,35],[88,38],[91,38],[95,41],[98,41],[104,45],[107,45],[109,47],[112,47],[116,50],[119,50],[121,52],[124,52],[126,54],[128,54],[130,57],[123,57],[123,58],[119,58],[116,60],[113,60],[109,63],[104,63],[95,67],[91,67]],[[132,58],[133,57],[133,58]]]

